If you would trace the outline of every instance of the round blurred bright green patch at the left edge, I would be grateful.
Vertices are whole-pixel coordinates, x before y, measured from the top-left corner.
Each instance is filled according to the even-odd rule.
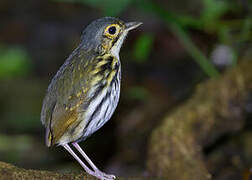
[[[31,60],[23,48],[0,46],[0,79],[22,77],[30,70]]]

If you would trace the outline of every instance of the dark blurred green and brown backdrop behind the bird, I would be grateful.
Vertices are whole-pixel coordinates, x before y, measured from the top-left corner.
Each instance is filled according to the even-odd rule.
[[[162,116],[179,108],[200,82],[251,57],[251,11],[250,0],[1,0],[0,160],[81,169],[62,147],[45,146],[42,99],[85,26],[116,16],[143,25],[121,49],[122,92],[113,118],[81,146],[108,172],[148,174],[148,137]]]

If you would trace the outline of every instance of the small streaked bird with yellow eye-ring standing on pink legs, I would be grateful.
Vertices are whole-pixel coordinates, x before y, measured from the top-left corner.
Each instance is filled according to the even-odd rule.
[[[120,96],[120,48],[128,32],[141,24],[115,17],[91,22],[77,48],[52,78],[43,100],[40,119],[46,145],[64,147],[88,174],[101,180],[116,176],[99,170],[78,143],[100,129],[114,113]]]

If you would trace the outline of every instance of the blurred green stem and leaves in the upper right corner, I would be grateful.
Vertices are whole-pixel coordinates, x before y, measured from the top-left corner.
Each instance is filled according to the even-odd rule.
[[[193,43],[190,36],[188,35],[188,28],[195,28],[205,32],[216,32],[219,37],[219,42],[232,45],[235,40],[233,39],[233,30],[237,30],[238,27],[242,26],[240,33],[236,39],[240,42],[241,40],[248,40],[252,37],[252,18],[242,18],[238,20],[223,20],[223,16],[229,11],[237,11],[237,4],[230,3],[230,1],[223,0],[204,0],[203,9],[199,17],[193,16],[180,16],[172,14],[165,10],[161,5],[154,1],[136,1],[137,7],[143,9],[146,12],[153,13],[162,19],[168,28],[177,36],[182,42],[187,52],[193,57],[196,63],[199,64],[201,69],[209,76],[216,77],[219,75],[217,69],[210,63],[209,59],[201,52],[201,50]],[[236,64],[237,50],[232,48],[233,54],[233,65]]]

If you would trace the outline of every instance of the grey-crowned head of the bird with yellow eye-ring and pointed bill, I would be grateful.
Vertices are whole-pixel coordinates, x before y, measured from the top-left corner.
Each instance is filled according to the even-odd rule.
[[[142,23],[128,22],[114,17],[103,17],[89,24],[82,33],[81,47],[104,54],[110,52],[118,56],[123,41],[132,29]]]

